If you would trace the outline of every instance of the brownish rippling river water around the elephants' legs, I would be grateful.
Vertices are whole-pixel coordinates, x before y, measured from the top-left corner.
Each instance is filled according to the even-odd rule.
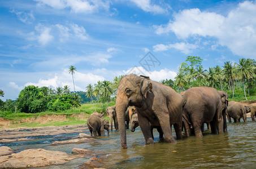
[[[206,128],[206,126],[205,126]],[[173,130],[174,131],[174,130]],[[88,134],[88,133],[86,133]],[[25,149],[43,148],[71,154],[73,148],[97,150],[107,157],[105,168],[255,168],[256,122],[228,123],[228,132],[211,135],[205,131],[202,138],[194,136],[168,144],[159,140],[154,131],[154,145],[145,145],[140,128],[127,130],[128,149],[121,149],[118,131],[110,136],[98,137],[97,141],[81,144],[50,145],[78,134],[37,137],[33,141],[6,143],[19,152]],[[175,133],[173,132],[175,136]],[[61,166],[41,168],[80,168],[87,158],[77,158]],[[83,168],[83,167],[82,167]]]

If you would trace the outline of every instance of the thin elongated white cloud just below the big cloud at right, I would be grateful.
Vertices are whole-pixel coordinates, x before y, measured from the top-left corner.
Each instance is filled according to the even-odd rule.
[[[174,43],[169,45],[159,44],[159,45],[153,46],[153,49],[155,52],[167,51],[167,50],[170,50],[171,48],[180,50],[184,54],[189,54],[190,52],[192,52],[192,50],[195,50],[196,48],[198,48],[198,46],[191,43],[185,43],[185,42]]]

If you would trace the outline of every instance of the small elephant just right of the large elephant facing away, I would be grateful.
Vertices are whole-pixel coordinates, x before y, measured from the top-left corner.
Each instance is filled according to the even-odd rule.
[[[236,101],[229,101],[227,109],[228,122],[231,123],[231,118],[234,119],[235,123],[240,123],[241,118],[244,120],[244,122],[246,122],[246,113],[248,113],[247,111],[249,111],[247,106],[244,106],[243,104]]]

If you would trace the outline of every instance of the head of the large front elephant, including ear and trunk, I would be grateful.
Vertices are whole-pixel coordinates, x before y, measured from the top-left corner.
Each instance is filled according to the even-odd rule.
[[[152,88],[152,83],[149,77],[138,77],[135,74],[123,77],[119,83],[116,95],[116,114],[118,116],[120,139],[123,149],[127,149],[125,111],[128,106],[141,108],[150,88]]]

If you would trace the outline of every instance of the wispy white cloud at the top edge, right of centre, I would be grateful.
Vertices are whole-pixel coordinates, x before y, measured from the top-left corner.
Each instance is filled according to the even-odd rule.
[[[150,0],[129,0],[134,2],[138,7],[146,12],[153,12],[154,14],[164,14],[167,10],[153,4]]]

